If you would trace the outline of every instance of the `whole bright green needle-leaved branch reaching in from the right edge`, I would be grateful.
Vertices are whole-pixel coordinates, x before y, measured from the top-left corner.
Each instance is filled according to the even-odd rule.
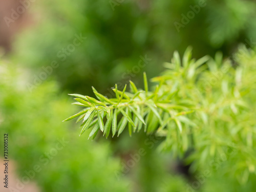
[[[167,70],[152,79],[152,91],[144,73],[144,90],[130,81],[130,92],[126,87],[113,89],[116,98],[106,98],[94,88],[97,99],[71,94],[77,101],[73,104],[84,110],[66,121],[78,117],[80,135],[91,129],[92,138],[99,130],[106,137],[111,131],[119,135],[126,126],[130,135],[142,129],[165,137],[160,148],[179,157],[188,152],[185,159],[193,162],[194,171],[210,167],[212,174],[215,158],[225,156],[229,163],[218,164],[221,173],[249,184],[256,164],[255,58],[244,47],[233,57],[238,65],[223,61],[221,53],[196,60],[191,59],[191,48],[182,58],[175,52],[172,62],[164,63]]]

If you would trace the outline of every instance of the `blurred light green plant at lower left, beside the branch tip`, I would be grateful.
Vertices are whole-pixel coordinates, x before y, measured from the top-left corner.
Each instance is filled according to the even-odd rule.
[[[19,188],[10,190],[35,181],[40,191],[48,192],[129,191],[124,177],[117,182],[115,172],[121,167],[119,159],[111,156],[111,147],[75,139],[72,124],[61,122],[74,109],[66,104],[57,83],[47,81],[30,93],[28,74],[0,61],[0,133],[9,135],[9,161],[16,164],[19,176],[12,182]]]

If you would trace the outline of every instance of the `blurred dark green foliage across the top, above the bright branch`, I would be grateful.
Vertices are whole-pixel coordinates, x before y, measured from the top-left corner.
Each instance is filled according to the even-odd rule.
[[[141,82],[135,76],[142,71],[148,76],[159,74],[159,61],[170,60],[170,53],[183,52],[189,45],[197,48],[196,58],[214,56],[217,50],[230,55],[240,42],[252,46],[255,2],[205,1],[198,8],[200,2],[121,1],[116,6],[103,0],[36,2],[31,11],[34,23],[18,36],[14,56],[33,67],[35,74],[57,60],[53,74],[61,88],[92,95],[88,89],[92,85],[106,93],[117,81]],[[183,15],[193,9],[198,10],[195,16],[177,30],[175,22],[182,24]],[[60,56],[73,44],[75,34],[86,39],[66,58]],[[133,67],[145,54],[152,60],[135,72]],[[127,70],[133,72],[126,75]]]

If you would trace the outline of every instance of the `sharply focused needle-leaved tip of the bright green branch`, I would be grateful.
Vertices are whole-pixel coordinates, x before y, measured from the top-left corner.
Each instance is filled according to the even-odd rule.
[[[122,91],[118,90],[116,84],[112,89],[116,98],[106,98],[94,87],[92,89],[97,99],[80,94],[69,94],[76,97],[77,102],[73,104],[84,106],[85,109],[63,121],[78,117],[77,122],[82,121],[80,135],[93,127],[89,138],[94,139],[98,130],[103,132],[106,138],[109,137],[111,130],[113,137],[116,133],[119,136],[126,125],[129,127],[130,135],[136,130],[139,132],[143,126],[144,131],[151,134],[157,129],[162,130],[171,120],[175,120],[179,125],[179,121],[173,117],[173,114],[180,116],[194,112],[187,106],[180,105],[177,108],[178,105],[173,103],[169,98],[170,95],[161,94],[163,83],[157,84],[152,92],[148,91],[146,74],[144,73],[143,76],[144,90],[138,90],[132,81],[130,81],[131,92],[126,92],[126,84]],[[119,122],[118,119],[120,119]],[[182,132],[182,127],[178,126],[178,128]]]

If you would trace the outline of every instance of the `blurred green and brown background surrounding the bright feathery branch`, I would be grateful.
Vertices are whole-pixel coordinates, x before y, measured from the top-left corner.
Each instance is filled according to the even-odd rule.
[[[114,83],[120,89],[131,79],[141,85],[143,71],[149,78],[158,75],[162,63],[187,46],[193,46],[195,58],[217,51],[228,57],[240,44],[253,47],[256,2],[2,0],[0,5],[0,126],[1,135],[10,135],[19,178],[39,164],[42,170],[31,179],[39,191],[187,191],[187,167],[159,153],[159,143],[143,133],[94,142],[78,137],[74,122],[61,122],[79,110],[67,94],[93,96],[94,86],[111,97]],[[20,6],[25,12],[14,19]],[[63,138],[68,144],[48,157]],[[140,148],[145,155],[124,170]],[[219,190],[214,187],[223,180],[212,178],[206,189]]]

